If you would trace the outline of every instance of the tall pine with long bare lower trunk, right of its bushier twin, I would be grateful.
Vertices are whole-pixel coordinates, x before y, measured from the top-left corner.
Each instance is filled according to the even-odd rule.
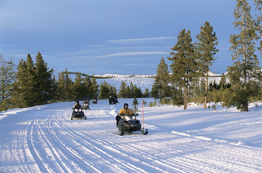
[[[210,26],[209,22],[205,22],[204,26],[200,27],[200,34],[196,35],[198,43],[195,44],[196,51],[198,52],[199,69],[205,74],[205,100],[204,109],[206,109],[207,97],[208,97],[208,73],[211,70],[212,63],[217,57],[214,55],[219,51],[216,49],[217,37],[216,33],[213,33],[213,27]]]

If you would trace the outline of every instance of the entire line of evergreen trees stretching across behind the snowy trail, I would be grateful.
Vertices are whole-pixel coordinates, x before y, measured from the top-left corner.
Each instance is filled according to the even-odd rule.
[[[16,72],[12,60],[6,61],[1,56],[0,110],[84,100],[95,96],[107,99],[118,94],[120,98],[170,98],[172,105],[184,106],[184,110],[189,102],[204,104],[204,109],[208,102],[221,102],[227,108],[234,106],[241,111],[248,111],[248,103],[258,101],[262,96],[261,67],[256,55],[257,50],[262,53],[262,15],[252,17],[248,0],[236,2],[233,13],[236,20],[233,25],[239,33],[230,36],[233,65],[227,67],[228,72],[222,75],[218,84],[209,81],[209,72],[219,50],[216,49],[216,33],[206,21],[196,35],[195,43],[192,42],[190,31],[182,29],[179,32],[177,43],[171,47],[172,52],[167,57],[172,62],[171,71],[162,57],[152,90],[146,89],[144,93],[132,82],[127,86],[122,81],[118,90],[106,81],[99,86],[94,75],[82,78],[83,75],[77,73],[73,82],[69,77],[71,72],[67,69],[55,79],[52,77],[53,69],[47,68],[40,52],[36,55],[36,63],[30,54],[25,61],[21,59]],[[261,11],[261,0],[254,0],[254,5],[256,11]],[[257,41],[260,41],[258,47]]]

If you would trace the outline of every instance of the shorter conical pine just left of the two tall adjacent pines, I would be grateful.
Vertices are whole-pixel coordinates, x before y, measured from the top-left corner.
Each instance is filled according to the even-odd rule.
[[[152,85],[152,96],[156,99],[162,100],[164,97],[170,97],[170,86],[168,82],[170,80],[170,71],[165,63],[165,59],[162,57],[156,70],[156,76],[154,77],[154,84]]]

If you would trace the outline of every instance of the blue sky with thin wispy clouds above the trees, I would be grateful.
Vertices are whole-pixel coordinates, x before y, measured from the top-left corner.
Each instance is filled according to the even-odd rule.
[[[171,64],[179,31],[196,41],[205,21],[219,42],[212,71],[222,74],[233,64],[234,0],[2,0],[0,7],[0,51],[16,64],[40,51],[58,72],[156,74],[161,57]]]

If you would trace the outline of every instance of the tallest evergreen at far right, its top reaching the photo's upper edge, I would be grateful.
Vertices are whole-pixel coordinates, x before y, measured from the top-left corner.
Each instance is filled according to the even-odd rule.
[[[256,21],[250,14],[251,7],[247,0],[237,0],[233,23],[235,28],[240,30],[239,34],[231,34],[230,50],[233,51],[231,67],[228,67],[228,76],[232,84],[231,92],[234,93],[231,99],[233,106],[241,111],[248,111],[248,102],[255,90],[257,81],[261,81],[261,71],[258,58],[255,55],[255,40],[257,35]]]

